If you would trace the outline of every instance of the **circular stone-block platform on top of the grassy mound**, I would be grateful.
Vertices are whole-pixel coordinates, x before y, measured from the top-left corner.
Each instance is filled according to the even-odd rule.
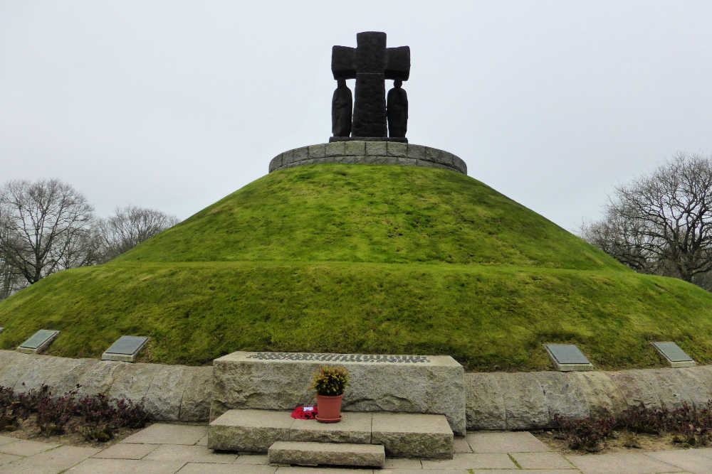
[[[442,168],[467,174],[464,161],[448,151],[397,141],[334,141],[285,151],[269,163],[269,172],[318,163],[401,165]]]

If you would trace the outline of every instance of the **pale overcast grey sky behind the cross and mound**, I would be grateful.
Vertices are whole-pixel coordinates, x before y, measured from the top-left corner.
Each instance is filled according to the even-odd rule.
[[[0,0],[0,182],[184,219],[328,141],[331,46],[385,31],[411,48],[410,143],[577,230],[615,185],[712,152],[711,18],[710,1]]]

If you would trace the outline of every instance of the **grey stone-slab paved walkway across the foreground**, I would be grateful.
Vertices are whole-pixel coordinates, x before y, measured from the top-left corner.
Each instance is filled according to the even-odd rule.
[[[387,459],[384,469],[297,468],[266,455],[214,453],[207,426],[157,423],[108,448],[76,448],[0,436],[0,473],[712,473],[712,448],[562,456],[525,431],[473,432],[456,438],[452,460]]]

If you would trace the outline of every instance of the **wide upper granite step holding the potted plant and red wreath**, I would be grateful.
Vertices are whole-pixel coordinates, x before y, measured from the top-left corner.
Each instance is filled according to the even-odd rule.
[[[381,444],[387,456],[451,459],[453,433],[443,415],[342,411],[339,423],[293,419],[290,411],[233,409],[211,421],[208,447],[266,453],[277,441]]]

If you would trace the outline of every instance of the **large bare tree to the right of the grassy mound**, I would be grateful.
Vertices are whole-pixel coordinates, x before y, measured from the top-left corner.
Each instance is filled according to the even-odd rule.
[[[696,281],[712,270],[712,161],[679,153],[617,188],[582,237],[637,271]]]

